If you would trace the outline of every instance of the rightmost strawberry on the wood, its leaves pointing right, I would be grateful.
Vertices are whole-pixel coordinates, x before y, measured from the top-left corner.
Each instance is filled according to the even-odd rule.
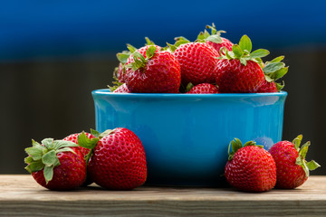
[[[277,188],[299,187],[308,179],[309,171],[320,166],[313,160],[307,162],[304,159],[311,143],[307,142],[300,147],[301,141],[302,135],[299,135],[292,142],[281,141],[269,149],[276,163]]]

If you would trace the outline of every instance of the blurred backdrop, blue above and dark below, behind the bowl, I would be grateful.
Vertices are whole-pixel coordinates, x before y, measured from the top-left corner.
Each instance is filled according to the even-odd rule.
[[[106,88],[126,43],[145,36],[158,45],[183,35],[193,41],[206,24],[254,49],[285,55],[289,95],[283,139],[312,141],[308,160],[326,175],[326,4],[313,1],[7,1],[0,6],[0,174],[26,174],[31,138],[62,138],[95,125],[91,90]]]

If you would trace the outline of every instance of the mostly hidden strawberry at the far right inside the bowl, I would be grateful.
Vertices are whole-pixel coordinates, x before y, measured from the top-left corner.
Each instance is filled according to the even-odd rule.
[[[284,84],[275,82],[275,80],[281,79],[288,71],[289,67],[285,67],[285,64],[282,62],[283,59],[284,56],[279,56],[273,59],[273,61],[266,61],[264,63],[265,80],[256,92],[278,92],[283,89]]]

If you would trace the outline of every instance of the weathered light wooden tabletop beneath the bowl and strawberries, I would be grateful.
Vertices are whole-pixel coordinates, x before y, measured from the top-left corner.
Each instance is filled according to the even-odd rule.
[[[0,175],[0,216],[326,216],[326,176],[295,190],[142,186],[108,191],[93,184],[53,192],[31,175]]]

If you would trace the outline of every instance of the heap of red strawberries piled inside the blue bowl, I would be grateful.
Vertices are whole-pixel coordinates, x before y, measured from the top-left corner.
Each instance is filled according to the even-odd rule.
[[[184,37],[160,47],[149,38],[145,46],[117,54],[120,61],[113,73],[118,93],[259,93],[277,92],[276,83],[288,71],[283,56],[262,60],[269,52],[252,52],[252,42],[244,35],[238,44],[221,37],[214,24],[197,36],[195,42]]]

